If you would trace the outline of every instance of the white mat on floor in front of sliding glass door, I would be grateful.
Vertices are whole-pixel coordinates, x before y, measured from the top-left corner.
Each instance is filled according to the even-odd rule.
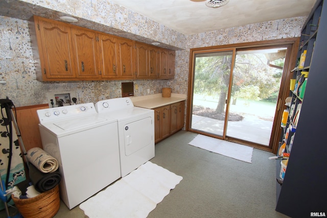
[[[190,143],[201,149],[251,163],[253,148],[198,134]]]

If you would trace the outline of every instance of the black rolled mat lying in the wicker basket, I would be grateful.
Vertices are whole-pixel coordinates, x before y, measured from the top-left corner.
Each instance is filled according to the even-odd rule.
[[[29,164],[29,175],[35,190],[48,191],[60,183],[59,170],[53,173],[42,173],[33,164]]]

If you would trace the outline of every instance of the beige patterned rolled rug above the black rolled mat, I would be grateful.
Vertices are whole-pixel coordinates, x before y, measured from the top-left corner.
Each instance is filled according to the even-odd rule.
[[[42,173],[55,172],[59,167],[58,160],[40,148],[30,149],[27,158]]]

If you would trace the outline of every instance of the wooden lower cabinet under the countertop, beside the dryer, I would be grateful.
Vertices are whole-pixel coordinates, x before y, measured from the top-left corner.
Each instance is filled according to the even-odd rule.
[[[181,130],[184,126],[184,101],[154,109],[155,143]]]

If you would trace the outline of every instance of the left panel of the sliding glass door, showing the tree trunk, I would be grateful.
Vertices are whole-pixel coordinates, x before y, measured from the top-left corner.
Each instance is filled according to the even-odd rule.
[[[223,137],[233,51],[195,55],[191,128]]]

